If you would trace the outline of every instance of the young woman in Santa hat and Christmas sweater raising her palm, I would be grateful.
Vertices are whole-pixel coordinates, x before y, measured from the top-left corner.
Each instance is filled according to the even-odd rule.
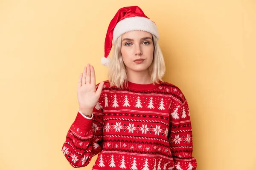
[[[158,39],[155,23],[138,6],[119,9],[111,20],[102,58],[109,79],[96,85],[90,64],[79,78],[79,111],[62,147],[73,167],[98,154],[93,170],[196,169],[188,103],[162,80]]]

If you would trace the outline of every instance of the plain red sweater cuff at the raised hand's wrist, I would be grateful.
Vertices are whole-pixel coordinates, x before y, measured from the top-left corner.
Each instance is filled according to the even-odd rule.
[[[76,127],[79,127],[80,130],[89,132],[92,130],[93,119],[84,118],[80,112],[77,112],[76,119],[73,124],[76,125]]]

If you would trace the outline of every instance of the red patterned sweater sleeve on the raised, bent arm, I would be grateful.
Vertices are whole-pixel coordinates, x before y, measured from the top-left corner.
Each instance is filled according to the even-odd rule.
[[[68,130],[62,152],[73,167],[87,166],[91,158],[102,150],[102,108],[97,103],[91,118],[83,116],[78,111],[75,121]]]

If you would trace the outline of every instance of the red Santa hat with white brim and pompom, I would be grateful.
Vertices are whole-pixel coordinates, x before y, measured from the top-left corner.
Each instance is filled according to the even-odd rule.
[[[122,34],[129,31],[146,31],[159,39],[159,34],[156,24],[150,20],[138,6],[123,7],[116,12],[116,15],[111,20],[105,38],[105,55],[101,59],[101,63],[108,66],[110,58],[108,57],[112,44]]]

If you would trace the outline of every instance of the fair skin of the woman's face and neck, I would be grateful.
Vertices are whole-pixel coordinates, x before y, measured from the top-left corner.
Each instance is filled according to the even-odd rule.
[[[122,59],[125,63],[128,81],[137,84],[151,84],[148,68],[153,61],[154,44],[152,35],[145,31],[131,31],[122,35]],[[134,60],[144,59],[142,63]]]

